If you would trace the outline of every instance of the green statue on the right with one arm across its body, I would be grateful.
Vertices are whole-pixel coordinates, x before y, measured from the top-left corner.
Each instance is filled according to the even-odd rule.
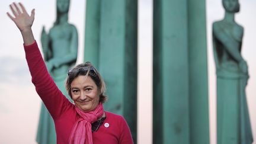
[[[245,88],[248,66],[241,55],[244,28],[235,22],[238,0],[222,0],[223,20],[213,23],[213,52],[217,74],[217,143],[251,144]]]

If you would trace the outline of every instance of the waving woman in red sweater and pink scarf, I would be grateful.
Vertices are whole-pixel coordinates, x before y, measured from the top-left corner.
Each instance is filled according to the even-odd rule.
[[[25,56],[41,100],[55,121],[57,143],[133,143],[129,127],[123,117],[104,111],[104,81],[100,73],[84,63],[68,72],[66,88],[74,104],[57,88],[49,75],[43,58],[34,40],[31,16],[20,4],[10,5],[14,14],[7,15],[21,31]]]

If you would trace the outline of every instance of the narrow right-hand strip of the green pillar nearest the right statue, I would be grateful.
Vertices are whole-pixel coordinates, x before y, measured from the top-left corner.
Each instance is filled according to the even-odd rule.
[[[209,143],[206,2],[188,2],[190,142]]]

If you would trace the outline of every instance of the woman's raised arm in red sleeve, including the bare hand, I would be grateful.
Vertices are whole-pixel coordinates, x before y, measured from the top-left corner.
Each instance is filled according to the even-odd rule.
[[[72,104],[69,103],[68,99],[66,99],[62,92],[57,88],[55,82],[47,72],[43,57],[34,40],[33,32],[31,30],[34,21],[34,9],[31,12],[31,16],[29,16],[23,5],[20,3],[19,5],[21,9],[19,9],[15,3],[10,5],[14,17],[8,12],[7,15],[14,21],[23,36],[25,56],[37,94],[39,94],[41,100],[43,100],[53,119],[57,119],[63,111],[67,110],[68,107],[64,105],[70,106]]]

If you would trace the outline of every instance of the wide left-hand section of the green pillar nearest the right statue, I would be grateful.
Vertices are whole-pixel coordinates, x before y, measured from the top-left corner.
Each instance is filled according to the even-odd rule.
[[[189,143],[186,0],[154,1],[153,143]]]

